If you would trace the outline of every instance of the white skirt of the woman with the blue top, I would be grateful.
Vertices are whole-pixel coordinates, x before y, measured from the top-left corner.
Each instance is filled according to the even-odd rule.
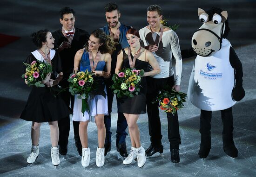
[[[104,89],[105,93],[106,87]],[[82,99],[77,98],[78,95],[74,95],[74,109],[72,120],[74,121],[90,121],[95,122],[94,116],[97,114],[108,115],[108,97],[106,94],[106,98],[102,95],[95,95],[93,99],[89,97],[89,110],[90,112],[84,112],[84,115],[81,112],[82,109]]]

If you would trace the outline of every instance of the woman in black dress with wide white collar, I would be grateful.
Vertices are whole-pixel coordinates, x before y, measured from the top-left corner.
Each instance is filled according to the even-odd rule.
[[[40,126],[42,122],[48,122],[52,142],[52,163],[58,165],[60,164],[60,158],[58,149],[59,127],[57,120],[71,114],[65,102],[61,100],[58,95],[53,95],[52,88],[54,86],[58,87],[57,85],[63,77],[61,60],[58,53],[52,50],[54,48],[54,38],[51,32],[48,30],[34,32],[32,34],[32,40],[38,49],[31,52],[27,57],[26,63],[30,64],[36,60],[45,63],[48,62],[52,65],[53,72],[48,73],[46,78],[42,81],[45,87],[33,86],[27,99],[27,105],[20,115],[21,119],[32,121],[32,149],[30,156],[27,158],[27,163],[34,163],[38,157]],[[27,84],[26,80],[25,82]]]

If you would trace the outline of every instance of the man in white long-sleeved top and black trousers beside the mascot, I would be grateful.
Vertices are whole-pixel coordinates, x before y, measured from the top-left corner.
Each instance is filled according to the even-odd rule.
[[[161,122],[158,109],[159,104],[152,103],[152,101],[156,100],[156,95],[159,93],[160,89],[164,88],[166,85],[173,87],[175,91],[179,91],[182,74],[182,57],[178,36],[169,27],[161,25],[161,19],[161,7],[158,5],[148,6],[147,20],[149,25],[139,31],[141,40],[146,46],[145,48],[153,52],[161,69],[161,73],[147,77],[148,129],[151,140],[151,145],[146,150],[147,156],[152,156],[156,152],[163,152],[161,143]],[[174,77],[172,67],[172,54],[176,60],[176,77]],[[149,70],[153,70],[153,68],[149,67]],[[171,161],[173,163],[179,163],[179,145],[181,144],[181,137],[177,112],[175,115],[167,113],[167,120]]]

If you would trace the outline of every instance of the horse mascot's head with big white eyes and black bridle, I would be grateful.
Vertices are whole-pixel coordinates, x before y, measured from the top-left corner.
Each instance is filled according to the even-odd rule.
[[[222,48],[222,39],[229,33],[228,12],[213,7],[205,12],[198,8],[203,23],[192,37],[193,50],[202,57],[209,57]]]

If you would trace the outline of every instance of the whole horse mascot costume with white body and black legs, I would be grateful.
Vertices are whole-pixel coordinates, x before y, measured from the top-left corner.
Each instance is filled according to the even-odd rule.
[[[242,63],[226,39],[230,30],[227,11],[213,7],[205,12],[198,8],[198,16],[203,24],[191,41],[197,56],[188,89],[189,101],[201,109],[198,155],[200,158],[208,156],[212,111],[221,111],[223,150],[235,158],[238,150],[233,140],[232,106],[245,95]]]

